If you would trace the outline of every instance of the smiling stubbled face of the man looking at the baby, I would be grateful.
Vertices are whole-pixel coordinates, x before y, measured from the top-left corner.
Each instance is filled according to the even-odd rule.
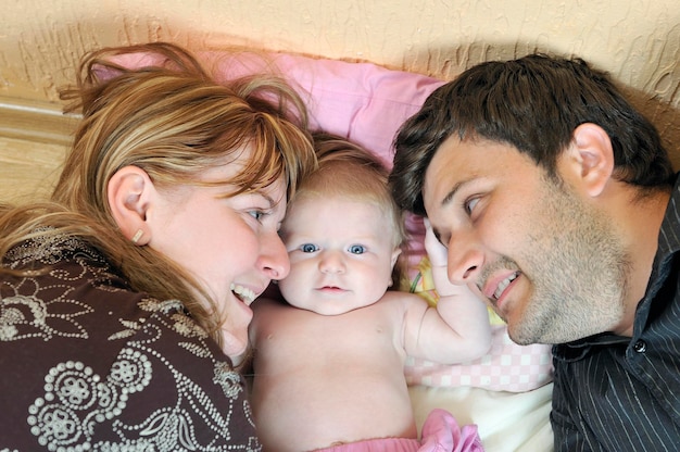
[[[579,192],[509,145],[457,136],[426,171],[425,208],[449,249],[449,278],[480,291],[518,343],[568,342],[621,322],[626,253]]]

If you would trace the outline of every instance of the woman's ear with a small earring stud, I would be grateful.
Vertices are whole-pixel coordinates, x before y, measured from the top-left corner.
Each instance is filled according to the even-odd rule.
[[[135,243],[149,243],[151,229],[147,224],[147,209],[153,183],[138,166],[124,166],[109,180],[109,208],[121,231]]]

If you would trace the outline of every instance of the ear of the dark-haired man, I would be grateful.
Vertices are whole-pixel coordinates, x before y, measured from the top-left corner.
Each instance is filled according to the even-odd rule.
[[[591,197],[600,196],[614,172],[609,135],[596,124],[579,125],[574,129],[568,158],[583,190]]]

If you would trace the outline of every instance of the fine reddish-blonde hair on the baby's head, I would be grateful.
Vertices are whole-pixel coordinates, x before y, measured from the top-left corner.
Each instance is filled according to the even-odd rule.
[[[302,197],[341,196],[358,202],[377,205],[389,224],[386,234],[392,231],[393,246],[406,253],[404,215],[394,202],[387,185],[389,171],[382,162],[362,148],[342,137],[326,133],[313,134],[318,168],[298,187],[289,206]],[[286,224],[284,223],[282,233]],[[398,260],[392,272],[393,289],[404,288],[406,277],[403,259]],[[407,285],[407,282],[406,282]]]

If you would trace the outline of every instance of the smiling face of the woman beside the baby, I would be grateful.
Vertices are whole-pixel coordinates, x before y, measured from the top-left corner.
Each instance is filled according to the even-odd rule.
[[[229,180],[250,159],[240,156],[203,173],[201,180]],[[234,186],[186,185],[160,189],[147,211],[149,246],[191,273],[226,318],[224,351],[241,354],[248,344],[250,304],[290,264],[278,228],[286,212],[286,184],[279,179],[254,192],[228,196]]]

